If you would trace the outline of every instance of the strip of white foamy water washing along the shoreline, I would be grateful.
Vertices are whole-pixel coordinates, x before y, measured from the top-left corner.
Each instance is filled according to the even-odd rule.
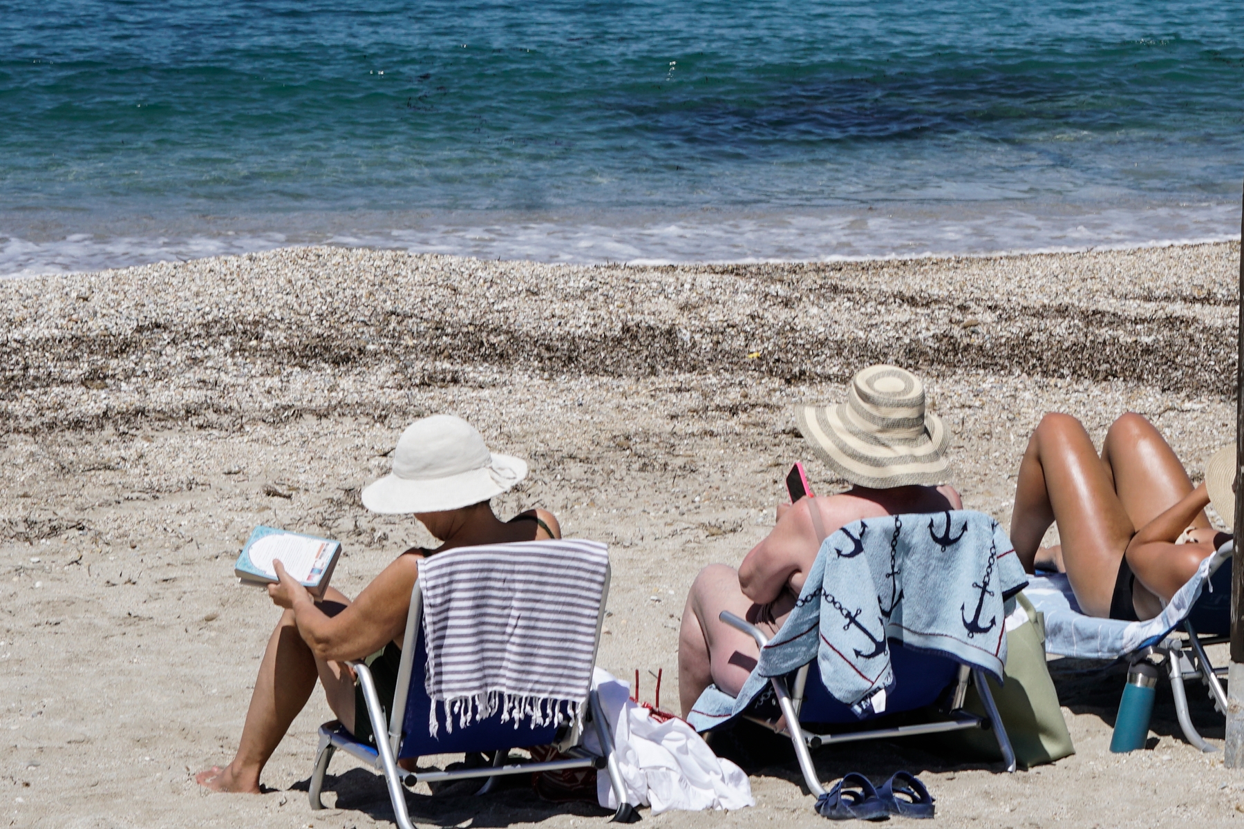
[[[911,259],[947,255],[1066,252],[1239,239],[1235,204],[1020,209],[1006,205],[912,205],[821,213],[615,214],[578,218],[464,214],[342,216],[315,221],[270,216],[269,230],[137,236],[75,234],[57,240],[0,236],[0,276],[100,271],[167,260],[328,244],[479,259],[547,262],[771,262]],[[284,224],[282,224],[284,222]],[[362,222],[355,222],[362,224]],[[291,231],[296,227],[296,231]],[[190,232],[187,232],[190,231]]]

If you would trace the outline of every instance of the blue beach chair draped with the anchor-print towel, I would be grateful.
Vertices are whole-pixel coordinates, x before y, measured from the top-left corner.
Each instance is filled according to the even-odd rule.
[[[852,625],[858,628],[858,624],[852,619],[867,618],[870,614],[870,610],[866,609],[861,616],[858,610],[853,610],[856,608],[853,600],[846,603],[846,599],[840,599],[837,604],[827,603],[830,585],[835,578],[838,578],[840,584],[842,580],[860,580],[857,579],[860,572],[851,574],[843,570],[836,577],[831,568],[843,567],[843,559],[858,556],[861,548],[866,546],[861,544],[861,539],[866,537],[866,533],[861,531],[861,524],[867,524],[867,537],[871,539],[868,543],[880,543],[886,556],[881,567],[870,567],[872,577],[863,575],[863,578],[870,578],[870,584],[876,587],[877,593],[884,593],[884,595],[877,597],[875,609],[888,619],[883,626],[888,635],[883,641],[876,633],[870,633],[867,640],[860,639],[858,641],[866,650],[871,648],[878,654],[884,644],[884,649],[888,651],[889,669],[893,671],[891,691],[882,695],[883,702],[878,705],[873,697],[872,706],[863,712],[858,705],[851,706],[836,698],[827,689],[830,682],[825,681],[822,675],[825,665],[830,665],[831,670],[847,670],[842,666],[842,661],[846,660],[825,661],[822,660],[824,648],[821,644],[809,641],[814,631],[820,630],[821,643],[830,645],[835,653],[840,653],[840,649],[835,648],[833,643],[829,643],[824,635],[825,628],[820,614],[826,613],[826,608],[831,608],[829,610],[831,623],[842,630],[847,630]],[[963,538],[963,548],[952,549],[947,556],[947,551],[958,543],[957,539],[952,539],[952,526],[957,528],[960,538],[964,537],[964,531],[968,527],[972,527],[972,531],[968,531],[967,537]],[[909,534],[901,536],[899,527],[908,527]],[[940,556],[937,552],[918,551],[908,546],[907,539],[913,536],[918,539],[922,533],[932,534],[933,546],[942,548]],[[928,541],[924,539],[924,543],[927,546]],[[998,562],[1004,556],[1013,558],[1014,551],[1010,549],[1005,533],[998,529],[996,522],[989,516],[965,511],[933,516],[904,515],[870,518],[865,522],[848,524],[825,539],[817,554],[817,563],[814,564],[800,595],[801,607],[815,607],[819,610],[815,611],[815,616],[805,614],[804,618],[797,618],[800,610],[796,608],[782,629],[774,636],[774,641],[780,644],[770,643],[759,628],[746,620],[729,611],[720,614],[723,621],[755,639],[761,649],[760,664],[753,671],[738,698],[729,697],[710,686],[697,701],[695,710],[688,721],[700,731],[710,731],[724,726],[735,716],[741,716],[778,733],[785,733],[795,748],[804,782],[816,797],[824,794],[825,788],[817,778],[811,752],[824,746],[865,740],[889,740],[970,728],[991,730],[998,740],[1006,771],[1014,772],[1015,752],[994,703],[989,684],[985,681],[986,672],[982,667],[983,664],[988,662],[996,677],[1001,672],[1001,662],[991,661],[985,657],[984,653],[978,659],[973,655],[972,648],[957,649],[952,645],[937,644],[938,634],[931,626],[916,623],[917,613],[914,609],[906,620],[903,610],[899,609],[904,592],[909,594],[919,592],[922,587],[918,582],[924,580],[919,578],[899,583],[898,574],[902,570],[919,574],[927,572],[929,567],[944,566],[945,561],[953,559],[955,556],[962,557],[962,559],[972,559],[973,551],[982,549],[982,544],[985,551],[990,548],[995,551],[989,553],[988,559],[982,556],[982,561],[989,561],[990,564],[985,568],[978,568],[974,574],[967,577],[967,584],[970,587],[959,584],[958,587],[962,589],[958,593],[947,593],[944,599],[948,607],[953,607],[958,616],[960,614],[960,598],[958,597],[963,597],[963,624],[968,630],[980,631],[985,628],[980,624],[982,620],[991,621],[991,624],[986,623],[990,635],[982,635],[978,641],[984,644],[984,640],[989,639],[990,643],[994,643],[984,646],[983,650],[993,650],[996,659],[1000,653],[998,649],[1005,646],[999,643],[999,636],[1003,635],[1004,608],[1010,607],[1011,597],[1024,585],[1021,570],[1015,569],[1019,567],[1015,562],[1006,562],[1010,568],[1006,574],[1009,587],[1000,584],[1003,567]],[[918,546],[918,541],[916,546]],[[996,569],[994,569],[994,564],[998,564]],[[820,579],[825,587],[814,583],[816,579]],[[962,582],[963,579],[953,578],[952,580]],[[1004,594],[1008,599],[1005,604]],[[974,602],[977,597],[979,597],[979,604]],[[812,599],[819,600],[814,604]],[[985,605],[986,599],[989,600],[988,605]],[[867,600],[863,604],[867,605]],[[984,616],[982,616],[982,607],[985,607],[986,610]],[[977,610],[974,618],[973,609]],[[842,615],[846,625],[838,624],[838,615]],[[795,641],[802,641],[802,645],[794,657],[794,664],[791,660],[784,660],[776,655],[782,648]],[[814,650],[817,653],[816,659],[799,664],[812,655]],[[856,654],[861,654],[861,651],[856,650]],[[985,707],[985,717],[963,710],[969,682],[977,686]],[[746,707],[740,708],[741,705],[746,705]],[[914,712],[924,712],[931,716],[916,722],[909,721],[913,718],[911,716],[904,717],[908,721],[903,725],[881,723],[881,727],[866,727],[870,721],[889,720],[893,715],[912,715]],[[779,715],[782,721],[781,728],[776,727]],[[916,718],[919,720],[919,717]],[[797,723],[797,727],[792,727],[791,723]]]

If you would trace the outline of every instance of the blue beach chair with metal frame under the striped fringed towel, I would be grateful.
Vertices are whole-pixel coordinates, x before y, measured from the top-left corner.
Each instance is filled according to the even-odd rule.
[[[473,551],[488,549],[489,552],[515,552],[508,559],[491,564],[493,577],[499,583],[505,583],[508,562],[514,562],[510,567],[518,570],[522,568],[524,577],[537,575],[547,584],[556,584],[562,577],[560,562],[565,561],[567,552],[576,549],[583,553],[601,556],[605,554],[603,544],[585,541],[536,541],[518,544],[493,544],[488,548],[464,547],[437,554],[438,567],[442,573],[453,573],[454,567],[465,561],[465,554]],[[549,563],[532,563],[539,561],[540,553],[559,553],[550,556]],[[535,554],[535,556],[532,556]],[[448,569],[447,569],[448,568]],[[557,616],[557,624],[562,625],[561,633],[566,639],[585,636],[590,633],[592,645],[592,664],[596,661],[596,649],[600,646],[601,626],[605,619],[605,605],[608,599],[610,569],[607,558],[605,563],[603,584],[598,594],[590,597],[597,607],[595,628],[590,631],[583,625],[591,625],[583,618],[575,619],[567,614],[564,607],[556,607],[555,600],[550,600],[547,607],[539,603],[530,605],[531,615],[539,611],[551,611],[547,615]],[[422,573],[420,573],[422,577]],[[449,578],[453,578],[449,575]],[[489,792],[498,777],[504,774],[531,774],[546,771],[562,771],[573,768],[606,769],[613,792],[617,795],[618,809],[612,820],[621,823],[633,823],[638,820],[634,805],[627,803],[626,789],[622,777],[613,757],[613,740],[601,708],[596,691],[591,690],[591,680],[582,689],[582,702],[578,706],[582,716],[577,721],[562,723],[540,725],[532,715],[511,716],[505,721],[503,711],[496,711],[491,716],[476,717],[469,725],[450,721],[450,712],[447,710],[445,722],[439,723],[437,733],[432,733],[429,715],[434,715],[433,701],[424,687],[424,670],[428,662],[427,638],[424,631],[424,595],[422,578],[414,584],[411,592],[411,609],[407,614],[406,635],[402,643],[402,660],[398,670],[397,689],[393,698],[393,708],[389,721],[384,722],[383,710],[376,692],[376,684],[368,666],[362,661],[353,661],[351,666],[358,676],[363,696],[367,702],[367,711],[360,711],[357,716],[369,717],[372,732],[377,736],[376,744],[364,743],[355,738],[340,722],[332,721],[320,726],[320,744],[316,753],[315,767],[311,774],[309,797],[312,809],[322,809],[320,794],[323,788],[323,778],[328,771],[328,763],[337,749],[356,757],[372,766],[384,776],[388,787],[389,799],[393,804],[393,813],[397,824],[402,829],[412,829],[411,817],[407,810],[404,787],[413,787],[415,783],[452,782],[469,778],[486,778],[484,785],[476,794]],[[582,614],[581,614],[582,615]],[[578,626],[576,626],[576,624]],[[545,631],[547,633],[547,630]],[[539,706],[537,706],[539,707]],[[547,710],[546,710],[547,713]],[[539,715],[536,715],[539,717]],[[547,720],[547,717],[544,717]],[[438,721],[439,722],[439,721]],[[583,728],[592,728],[597,736],[601,751],[592,752],[583,746],[581,740]],[[384,738],[382,738],[383,736]],[[564,758],[546,762],[510,763],[509,749],[526,748],[532,746],[555,746]],[[413,759],[429,754],[447,753],[491,753],[490,766],[479,768],[463,768],[455,771],[415,771],[408,772],[397,763],[401,759]]]

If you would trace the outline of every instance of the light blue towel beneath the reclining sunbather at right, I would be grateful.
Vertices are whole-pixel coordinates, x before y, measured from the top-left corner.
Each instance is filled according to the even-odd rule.
[[[1171,597],[1162,613],[1147,621],[1100,619],[1080,611],[1066,573],[1036,577],[1024,590],[1033,607],[1045,615],[1045,650],[1079,659],[1118,659],[1147,645],[1156,645],[1183,624],[1200,598],[1209,577],[1230,558],[1234,542],[1227,542],[1200,562],[1197,573]]]

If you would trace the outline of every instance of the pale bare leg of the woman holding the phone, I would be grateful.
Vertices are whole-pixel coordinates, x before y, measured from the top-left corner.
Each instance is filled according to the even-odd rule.
[[[683,716],[710,684],[736,695],[756,666],[760,648],[748,634],[718,616],[723,610],[761,624],[773,634],[773,623],[760,619],[761,608],[743,594],[739,573],[725,564],[709,564],[699,572],[687,597],[678,633],[678,698]]]

